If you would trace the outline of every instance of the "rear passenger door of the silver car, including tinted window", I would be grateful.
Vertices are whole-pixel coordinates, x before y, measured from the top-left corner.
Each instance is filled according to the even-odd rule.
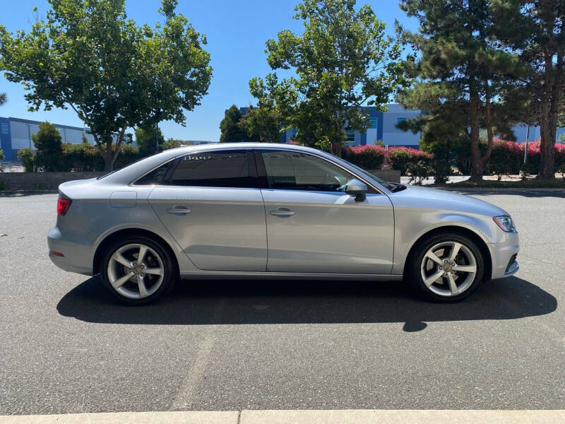
[[[145,177],[155,184],[150,205],[199,269],[266,270],[265,208],[253,160],[244,149],[190,153]]]

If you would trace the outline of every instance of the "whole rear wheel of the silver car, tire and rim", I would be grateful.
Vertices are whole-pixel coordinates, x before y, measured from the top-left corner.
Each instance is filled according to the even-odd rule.
[[[167,251],[147,237],[114,242],[102,261],[102,282],[129,305],[154,302],[172,287],[174,266]]]

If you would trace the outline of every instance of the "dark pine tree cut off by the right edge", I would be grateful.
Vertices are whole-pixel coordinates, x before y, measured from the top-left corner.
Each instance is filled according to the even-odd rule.
[[[565,0],[492,0],[498,37],[520,54],[530,74],[528,112],[540,125],[540,179],[552,179],[565,82]]]

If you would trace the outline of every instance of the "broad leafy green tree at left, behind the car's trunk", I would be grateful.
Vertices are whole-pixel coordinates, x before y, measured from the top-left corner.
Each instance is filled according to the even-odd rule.
[[[128,19],[125,0],[49,0],[29,33],[0,25],[0,69],[30,110],[71,107],[112,170],[128,127],[184,124],[210,85],[206,37],[162,0],[162,26]]]

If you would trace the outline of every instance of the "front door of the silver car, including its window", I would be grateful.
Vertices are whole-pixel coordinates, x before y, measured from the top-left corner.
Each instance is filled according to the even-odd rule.
[[[265,202],[268,271],[389,274],[394,216],[388,196],[364,201],[343,192],[357,178],[300,151],[256,151]]]

